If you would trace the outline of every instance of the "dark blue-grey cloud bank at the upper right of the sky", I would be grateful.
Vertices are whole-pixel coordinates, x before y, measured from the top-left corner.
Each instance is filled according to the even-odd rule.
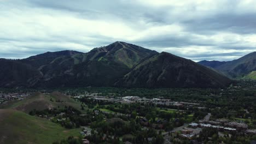
[[[186,29],[193,33],[210,35],[218,31],[227,31],[238,34],[256,33],[256,15],[249,14],[219,14],[205,19],[184,21]]]

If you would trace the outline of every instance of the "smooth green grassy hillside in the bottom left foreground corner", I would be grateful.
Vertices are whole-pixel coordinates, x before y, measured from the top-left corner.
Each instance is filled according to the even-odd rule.
[[[0,143],[49,144],[79,136],[80,129],[65,129],[46,119],[16,110],[0,110]]]

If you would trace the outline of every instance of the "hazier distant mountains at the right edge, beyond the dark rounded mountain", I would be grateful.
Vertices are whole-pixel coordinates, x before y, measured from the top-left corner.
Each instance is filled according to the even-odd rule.
[[[241,79],[256,70],[256,52],[249,53],[234,61],[201,61],[199,64],[214,68],[232,79]]]

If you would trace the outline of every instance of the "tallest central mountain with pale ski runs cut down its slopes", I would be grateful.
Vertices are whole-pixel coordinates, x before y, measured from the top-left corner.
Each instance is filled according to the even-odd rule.
[[[155,53],[117,41],[88,53],[57,57],[39,67],[42,79],[34,87],[113,86],[133,65]]]

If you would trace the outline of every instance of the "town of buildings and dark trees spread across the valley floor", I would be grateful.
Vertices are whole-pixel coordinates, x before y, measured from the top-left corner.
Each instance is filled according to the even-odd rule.
[[[51,95],[53,91],[56,90],[43,89],[41,93]],[[67,129],[80,128],[83,143],[232,143],[240,140],[251,143],[256,135],[256,115],[251,103],[254,91],[248,89],[117,91],[84,88],[58,91],[77,101],[79,106],[32,110],[29,114]],[[7,101],[26,100],[33,91],[4,93],[2,101],[6,102],[1,105]],[[240,101],[241,98],[244,101]],[[228,104],[216,105],[219,100],[230,99]],[[58,99],[50,101],[66,103]]]

